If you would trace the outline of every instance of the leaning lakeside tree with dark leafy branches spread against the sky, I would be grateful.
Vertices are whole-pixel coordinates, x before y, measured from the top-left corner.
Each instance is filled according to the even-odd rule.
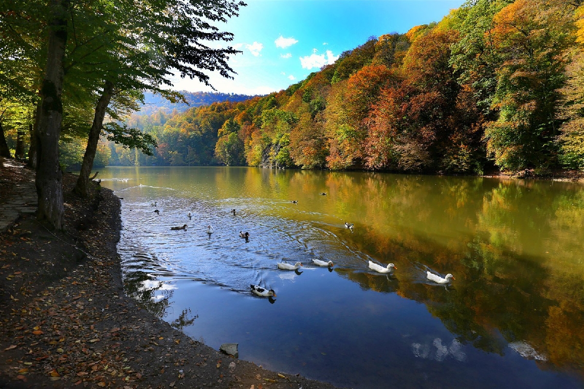
[[[209,22],[226,22],[228,17],[237,16],[239,6],[244,5],[234,0],[205,0],[196,3],[180,0],[145,1],[139,5],[134,2],[126,4],[127,9],[138,13],[137,18],[127,15],[116,17],[116,13],[113,13],[113,17],[108,20],[114,23],[119,21],[119,24],[112,28],[115,33],[108,34],[108,37],[117,55],[110,54],[111,50],[107,51],[114,66],[104,69],[105,83],[96,106],[88,148],[75,186],[76,192],[85,194],[105,110],[115,94],[130,89],[154,90],[176,100],[182,96],[160,87],[162,84],[171,85],[168,76],[172,68],[177,69],[181,77],[198,78],[209,86],[209,76],[204,71],[218,71],[222,76],[232,78],[233,71],[227,65],[228,55],[239,51],[232,47],[210,48],[204,42],[231,41],[231,33],[220,32]],[[122,31],[130,33],[121,34]],[[135,34],[135,31],[141,33]],[[151,61],[153,52],[158,55],[158,61]],[[123,73],[118,68],[123,68]]]

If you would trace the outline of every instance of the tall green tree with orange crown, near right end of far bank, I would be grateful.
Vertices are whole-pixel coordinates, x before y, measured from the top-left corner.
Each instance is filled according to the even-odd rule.
[[[494,17],[493,43],[503,62],[493,107],[499,118],[485,129],[487,150],[508,170],[552,167],[558,89],[565,82],[566,57],[574,28],[569,2],[517,0]]]

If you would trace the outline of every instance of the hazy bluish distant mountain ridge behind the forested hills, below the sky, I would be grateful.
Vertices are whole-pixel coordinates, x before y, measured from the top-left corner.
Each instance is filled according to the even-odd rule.
[[[137,115],[151,115],[152,113],[162,109],[168,113],[171,113],[173,110],[177,110],[179,112],[185,112],[189,108],[192,107],[200,107],[200,106],[208,106],[213,103],[221,103],[223,101],[245,101],[249,100],[252,97],[248,94],[235,94],[235,93],[213,93],[213,92],[187,92],[186,90],[181,90],[186,101],[189,104],[185,103],[171,103],[170,101],[164,99],[157,94],[152,94],[150,92],[144,94],[144,101],[145,104],[142,106],[140,111],[138,111]]]

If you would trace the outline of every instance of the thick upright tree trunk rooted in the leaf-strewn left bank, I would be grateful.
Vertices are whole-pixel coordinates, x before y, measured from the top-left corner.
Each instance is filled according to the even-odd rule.
[[[69,0],[51,0],[53,12],[48,36],[47,67],[41,87],[41,109],[37,127],[36,188],[39,196],[37,219],[55,230],[64,228],[62,171],[59,165],[59,135],[63,106],[63,58],[67,44]]]

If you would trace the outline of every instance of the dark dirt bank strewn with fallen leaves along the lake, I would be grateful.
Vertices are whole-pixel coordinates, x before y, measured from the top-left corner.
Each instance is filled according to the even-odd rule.
[[[21,212],[0,234],[0,388],[333,388],[223,355],[138,307],[116,253],[120,200],[97,184],[76,197],[76,178],[63,178],[66,232]],[[0,167],[0,203],[13,209],[32,181]]]

